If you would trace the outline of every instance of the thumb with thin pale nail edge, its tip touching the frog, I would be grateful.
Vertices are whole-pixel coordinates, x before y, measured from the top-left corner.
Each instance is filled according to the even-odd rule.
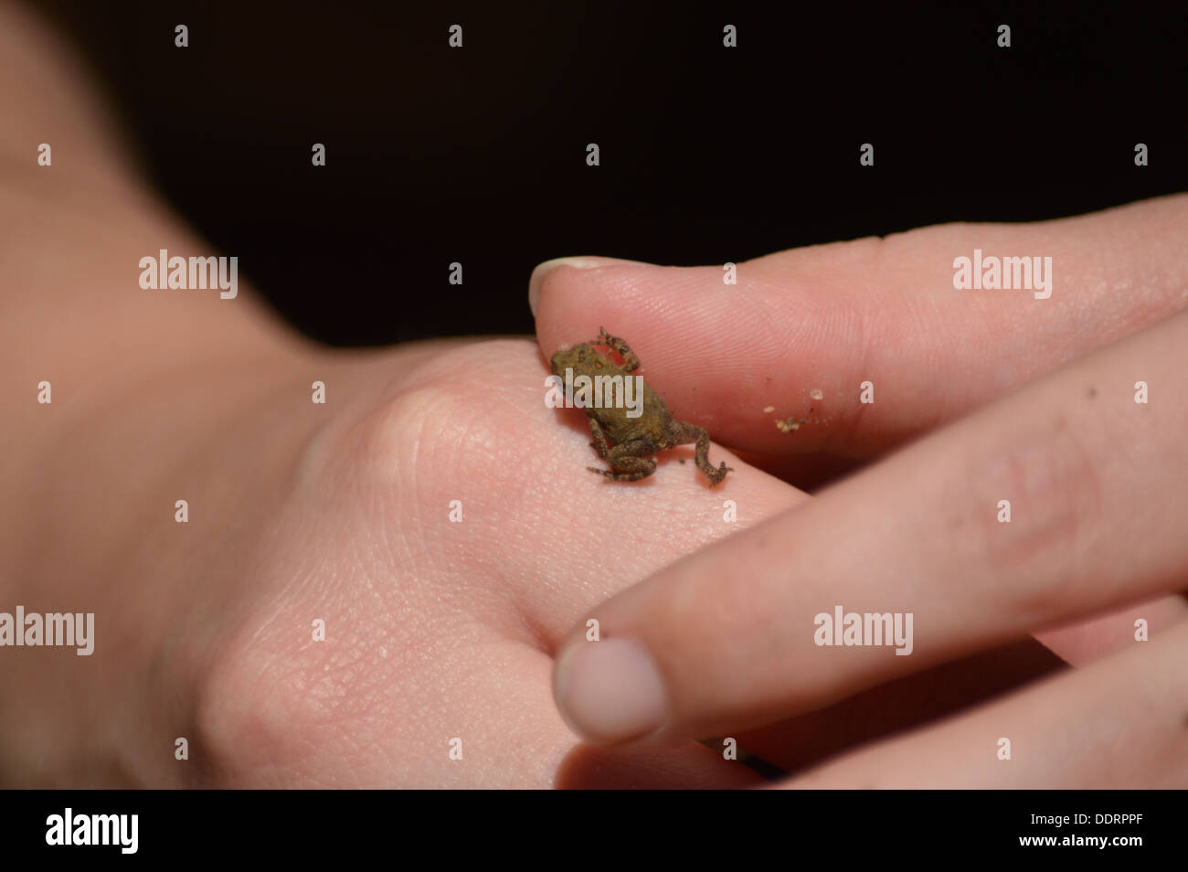
[[[1050,257],[1051,296],[955,290],[954,260],[974,249]],[[546,356],[605,326],[674,413],[716,440],[870,456],[1181,310],[1186,249],[1180,195],[781,252],[740,264],[737,285],[721,266],[548,261],[530,293]]]

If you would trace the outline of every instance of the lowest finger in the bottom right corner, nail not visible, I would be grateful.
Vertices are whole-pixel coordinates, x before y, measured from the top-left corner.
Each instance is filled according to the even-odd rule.
[[[1186,663],[1182,623],[1165,638],[847,754],[782,786],[1182,789]]]

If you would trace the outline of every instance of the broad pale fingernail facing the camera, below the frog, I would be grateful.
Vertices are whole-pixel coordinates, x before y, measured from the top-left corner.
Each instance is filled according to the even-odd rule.
[[[643,738],[668,720],[668,694],[655,661],[632,639],[579,642],[557,662],[557,707],[592,741]]]

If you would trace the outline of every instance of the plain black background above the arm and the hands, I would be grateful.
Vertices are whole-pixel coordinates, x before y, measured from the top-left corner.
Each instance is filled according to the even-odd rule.
[[[163,195],[334,345],[529,333],[560,255],[720,264],[1188,189],[1182,2],[39,7]]]

